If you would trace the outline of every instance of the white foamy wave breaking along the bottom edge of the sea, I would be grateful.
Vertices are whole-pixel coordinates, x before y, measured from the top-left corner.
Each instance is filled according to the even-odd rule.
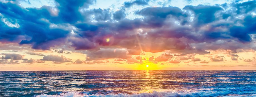
[[[47,95],[41,94],[35,97],[209,97],[209,96],[224,96],[233,94],[235,92],[255,91],[254,88],[211,88],[199,90],[184,90],[184,91],[153,91],[152,93],[139,93],[139,94],[107,94],[107,95],[87,95],[80,92],[66,92],[60,95]]]

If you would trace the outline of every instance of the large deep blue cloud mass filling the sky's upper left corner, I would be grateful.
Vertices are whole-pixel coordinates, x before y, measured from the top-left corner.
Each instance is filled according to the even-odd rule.
[[[0,2],[0,13],[3,14],[4,18],[13,19],[20,25],[19,28],[12,28],[1,22],[3,26],[0,27],[2,28],[0,39],[14,41],[20,40],[17,39],[19,35],[27,35],[31,38],[22,40],[19,44],[31,44],[32,48],[43,50],[49,50],[50,47],[58,45],[53,43],[59,43],[59,40],[65,39],[69,32],[63,29],[50,28],[50,23],[41,19],[47,19],[53,23],[81,21],[83,17],[78,8],[83,5],[88,7],[86,4],[91,4],[92,1],[58,1],[58,3],[60,4],[58,7],[60,12],[55,17],[50,14],[50,6],[25,9],[16,4]]]

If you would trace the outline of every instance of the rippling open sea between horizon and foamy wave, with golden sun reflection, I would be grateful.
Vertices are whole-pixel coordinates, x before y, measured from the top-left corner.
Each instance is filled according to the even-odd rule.
[[[59,91],[83,91],[89,94],[184,91],[212,88],[216,84],[220,88],[252,84],[255,82],[252,74],[255,75],[252,71],[186,70],[0,72],[0,79],[4,79],[0,80],[3,86],[0,86],[0,91],[26,96],[49,92],[58,94]],[[16,90],[16,87],[20,90]]]

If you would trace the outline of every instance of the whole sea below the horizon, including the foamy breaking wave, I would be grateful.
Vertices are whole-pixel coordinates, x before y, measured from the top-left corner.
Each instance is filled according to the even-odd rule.
[[[0,96],[256,97],[256,71],[1,71]]]

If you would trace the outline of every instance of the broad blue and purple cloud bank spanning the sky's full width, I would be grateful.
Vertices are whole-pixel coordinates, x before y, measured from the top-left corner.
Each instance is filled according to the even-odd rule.
[[[113,13],[110,9],[80,10],[88,8],[94,2],[57,0],[56,7],[40,8],[23,8],[16,4],[0,2],[0,13],[3,15],[1,18],[19,25],[9,27],[0,22],[0,41],[30,44],[34,49],[43,50],[70,42],[71,47],[76,50],[99,49],[103,46],[138,50],[138,47],[142,46],[142,50],[146,52],[172,50],[205,54],[209,53],[205,51],[208,49],[243,48],[214,47],[208,44],[222,40],[246,45],[252,41],[250,34],[256,32],[256,17],[251,14],[256,10],[256,1],[230,5],[185,6],[183,10],[173,6],[146,7],[135,12],[143,18],[132,20],[125,18],[125,10],[134,4],[147,5],[148,1],[125,2],[121,10]],[[53,10],[56,11],[54,14]],[[77,28],[73,30],[76,35],[69,36],[70,29],[51,25],[72,25]],[[139,33],[138,29],[143,31]],[[72,38],[67,41],[67,37]],[[105,42],[106,37],[113,39],[110,40],[111,44]],[[138,45],[138,41],[141,45]],[[201,45],[205,43],[207,48]],[[200,45],[193,48],[195,44]],[[250,47],[247,45],[246,48]]]

